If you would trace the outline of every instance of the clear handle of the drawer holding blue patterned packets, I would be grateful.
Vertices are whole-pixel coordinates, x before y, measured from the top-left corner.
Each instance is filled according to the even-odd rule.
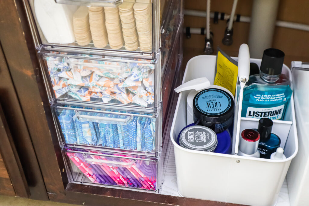
[[[92,116],[92,115],[82,115],[79,111],[75,111],[76,117],[81,121],[91,121],[104,124],[122,124],[127,125],[133,119],[132,115],[121,115],[125,118],[114,118],[114,117],[104,117],[104,116]]]

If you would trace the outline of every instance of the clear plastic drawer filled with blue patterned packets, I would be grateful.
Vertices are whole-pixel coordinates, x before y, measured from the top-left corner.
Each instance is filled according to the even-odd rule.
[[[161,113],[52,105],[60,146],[159,156]]]

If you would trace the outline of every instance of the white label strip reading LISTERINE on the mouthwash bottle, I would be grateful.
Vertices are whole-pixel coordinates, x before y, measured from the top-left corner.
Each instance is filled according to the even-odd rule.
[[[271,120],[280,120],[282,118],[283,109],[284,104],[269,108],[248,107],[246,117],[258,119],[266,117]]]

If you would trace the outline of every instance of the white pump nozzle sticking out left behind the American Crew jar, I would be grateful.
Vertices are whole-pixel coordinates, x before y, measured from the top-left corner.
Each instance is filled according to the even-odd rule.
[[[201,77],[197,79],[192,79],[188,82],[183,83],[182,85],[178,86],[174,89],[177,93],[186,90],[203,90],[210,86],[210,82],[206,77]]]

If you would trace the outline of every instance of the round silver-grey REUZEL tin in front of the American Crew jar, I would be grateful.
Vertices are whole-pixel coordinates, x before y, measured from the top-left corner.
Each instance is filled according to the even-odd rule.
[[[194,125],[180,133],[180,146],[205,152],[212,152],[218,144],[216,133],[204,126]]]

